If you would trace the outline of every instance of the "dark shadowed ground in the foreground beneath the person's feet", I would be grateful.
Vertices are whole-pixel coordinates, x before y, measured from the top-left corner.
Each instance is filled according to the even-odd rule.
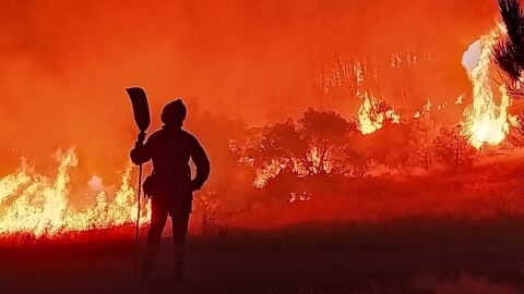
[[[0,293],[523,293],[522,219],[309,223],[189,240],[184,280],[132,271],[131,242],[1,250]]]

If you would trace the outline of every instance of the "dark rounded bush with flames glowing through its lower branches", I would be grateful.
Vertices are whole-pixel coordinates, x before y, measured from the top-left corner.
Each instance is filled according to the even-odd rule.
[[[257,131],[243,147],[233,148],[240,162],[257,170],[257,187],[281,173],[297,177],[361,174],[349,144],[357,125],[336,112],[309,109],[298,121],[287,119]]]

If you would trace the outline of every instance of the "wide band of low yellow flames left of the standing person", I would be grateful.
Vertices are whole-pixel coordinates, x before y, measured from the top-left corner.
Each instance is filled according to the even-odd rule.
[[[0,236],[29,234],[35,237],[57,236],[72,231],[107,229],[136,220],[135,192],[131,186],[132,166],[122,173],[122,182],[108,200],[102,189],[95,204],[78,209],[70,203],[68,171],[78,159],[73,150],[57,151],[59,161],[56,179],[33,174],[26,167],[0,177]],[[146,207],[140,222],[145,223],[151,213]]]

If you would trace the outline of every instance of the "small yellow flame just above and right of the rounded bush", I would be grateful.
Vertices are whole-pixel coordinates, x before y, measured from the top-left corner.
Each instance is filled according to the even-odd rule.
[[[381,111],[377,109],[377,100],[367,91],[364,93],[364,100],[357,111],[358,130],[362,135],[369,135],[382,128],[385,120],[398,124],[401,117],[393,109]]]

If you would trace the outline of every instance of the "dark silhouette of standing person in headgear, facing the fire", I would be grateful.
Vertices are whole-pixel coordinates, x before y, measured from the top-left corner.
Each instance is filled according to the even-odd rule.
[[[181,99],[169,102],[162,112],[162,130],[153,133],[144,145],[136,145],[131,150],[133,163],[153,161],[153,172],[143,184],[152,208],[146,248],[140,265],[144,278],[151,275],[168,216],[172,223],[172,278],[181,278],[193,192],[200,189],[210,175],[210,161],[204,149],[193,135],[182,130],[186,114],[187,108]],[[194,179],[191,179],[190,159],[196,167]]]

